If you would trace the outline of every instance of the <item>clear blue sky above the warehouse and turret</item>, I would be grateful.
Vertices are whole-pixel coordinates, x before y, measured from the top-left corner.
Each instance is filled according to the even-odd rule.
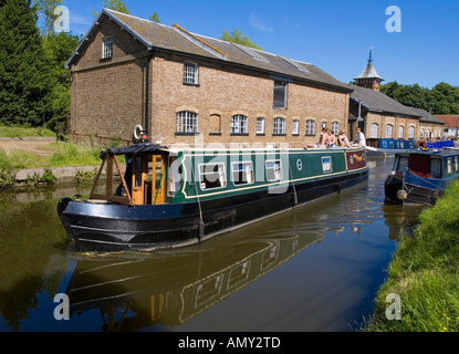
[[[157,12],[164,24],[218,38],[237,28],[264,51],[312,63],[342,82],[365,69],[368,49],[385,82],[459,86],[459,1],[456,0],[124,0],[131,14]],[[64,0],[70,30],[85,33],[102,0]],[[389,6],[400,10],[399,22]],[[401,24],[388,32],[386,22]]]

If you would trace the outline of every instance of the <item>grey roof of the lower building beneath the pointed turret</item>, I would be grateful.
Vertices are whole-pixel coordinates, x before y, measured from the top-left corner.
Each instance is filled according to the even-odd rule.
[[[400,114],[407,116],[420,117],[419,112],[414,108],[403,105],[401,103],[390,98],[384,93],[375,90],[369,90],[356,85],[348,85],[350,88],[354,90],[351,94],[351,100],[361,102],[362,105],[372,112],[386,112],[393,114]]]

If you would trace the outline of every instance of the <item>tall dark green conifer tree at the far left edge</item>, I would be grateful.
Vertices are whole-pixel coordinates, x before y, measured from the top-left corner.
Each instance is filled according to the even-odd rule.
[[[56,84],[30,0],[0,7],[0,122],[43,126],[53,115]]]

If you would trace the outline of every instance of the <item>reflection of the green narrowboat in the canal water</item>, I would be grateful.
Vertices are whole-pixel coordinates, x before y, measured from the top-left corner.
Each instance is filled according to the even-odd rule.
[[[100,309],[103,331],[181,325],[324,237],[234,236],[226,248],[79,259],[66,290],[71,317]]]

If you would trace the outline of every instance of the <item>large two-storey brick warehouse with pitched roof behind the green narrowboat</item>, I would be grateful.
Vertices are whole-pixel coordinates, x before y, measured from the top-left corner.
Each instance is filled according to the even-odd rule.
[[[75,142],[319,139],[347,124],[352,90],[316,66],[104,9],[67,61]]]

